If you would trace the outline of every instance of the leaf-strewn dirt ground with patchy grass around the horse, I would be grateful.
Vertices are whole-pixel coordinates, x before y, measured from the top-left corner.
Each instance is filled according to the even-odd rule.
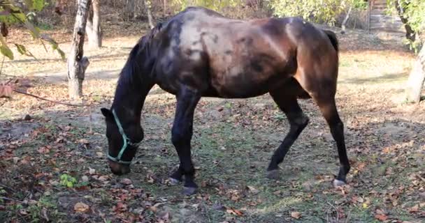
[[[111,174],[99,109],[110,106],[144,27],[109,28],[101,49],[85,51],[82,102],[90,107],[0,98],[0,222],[425,221],[425,103],[403,100],[415,56],[398,38],[362,31],[338,33],[336,100],[352,164],[347,186],[331,187],[336,146],[311,100],[301,101],[310,124],[280,165],[282,177],[268,180],[269,159],[289,128],[270,96],[203,98],[192,139],[200,188],[183,196],[182,185],[168,182],[178,164],[170,135],[175,98],[157,86],[145,102],[145,139],[131,174]],[[30,79],[29,93],[66,101],[66,63],[22,31],[11,33],[28,40],[38,60],[6,59],[3,72]],[[71,33],[50,33],[68,52]]]

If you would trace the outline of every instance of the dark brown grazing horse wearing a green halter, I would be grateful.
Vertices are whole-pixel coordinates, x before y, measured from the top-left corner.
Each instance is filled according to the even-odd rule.
[[[108,162],[114,174],[127,174],[143,140],[141,110],[154,84],[177,98],[171,141],[180,166],[173,183],[185,180],[195,192],[191,158],[194,109],[201,97],[251,98],[270,93],[286,114],[290,130],[273,153],[268,178],[308,124],[298,98],[312,98],[329,124],[338,147],[340,171],[333,185],[346,183],[350,171],[343,122],[335,95],[338,40],[299,17],[232,20],[206,8],[191,7],[158,24],[131,50],[106,117]]]

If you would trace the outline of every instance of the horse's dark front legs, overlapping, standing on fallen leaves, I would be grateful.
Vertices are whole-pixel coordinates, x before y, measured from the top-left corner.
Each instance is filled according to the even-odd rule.
[[[198,187],[194,182],[195,169],[191,158],[190,141],[193,134],[194,110],[200,99],[199,93],[187,88],[183,88],[177,94],[177,108],[171,132],[171,141],[180,159],[178,170],[171,174],[171,182],[182,181],[182,176],[185,176],[183,194],[186,195],[194,194]]]

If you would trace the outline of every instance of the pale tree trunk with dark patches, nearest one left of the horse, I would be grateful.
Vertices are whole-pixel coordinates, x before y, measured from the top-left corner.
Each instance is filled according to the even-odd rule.
[[[78,1],[78,10],[75,16],[71,52],[68,57],[68,89],[69,97],[73,99],[82,97],[82,81],[84,80],[85,70],[89,66],[89,59],[83,55],[82,48],[90,3],[90,0]]]

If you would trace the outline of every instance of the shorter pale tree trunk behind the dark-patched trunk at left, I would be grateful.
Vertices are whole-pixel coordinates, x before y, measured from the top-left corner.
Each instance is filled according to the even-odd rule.
[[[98,49],[102,47],[102,31],[101,31],[101,12],[99,0],[92,0],[89,15],[87,17],[87,36],[89,38],[89,48]]]

